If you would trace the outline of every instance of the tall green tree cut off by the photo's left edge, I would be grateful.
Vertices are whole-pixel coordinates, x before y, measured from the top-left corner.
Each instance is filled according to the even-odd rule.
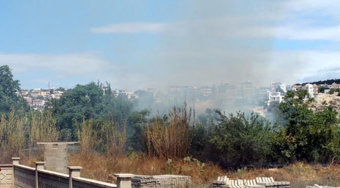
[[[0,111],[8,112],[11,109],[27,109],[25,99],[17,95],[20,91],[18,80],[13,80],[13,74],[8,65],[0,66]]]

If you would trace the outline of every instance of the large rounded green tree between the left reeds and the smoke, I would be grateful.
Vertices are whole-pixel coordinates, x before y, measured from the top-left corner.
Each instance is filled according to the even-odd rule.
[[[103,87],[99,82],[77,85],[66,91],[60,99],[52,99],[49,105],[59,129],[65,129],[61,131],[65,137],[70,135],[70,130],[75,136],[75,125],[83,120],[93,119],[98,125],[108,121],[122,124],[132,107],[129,101],[116,98],[110,85]]]

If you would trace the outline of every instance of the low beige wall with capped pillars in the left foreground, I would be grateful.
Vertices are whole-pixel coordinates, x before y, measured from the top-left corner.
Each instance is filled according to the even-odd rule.
[[[69,174],[44,170],[44,162],[36,162],[36,168],[19,164],[20,158],[12,158],[13,165],[0,165],[0,187],[21,188],[131,188],[133,174],[115,174],[118,185],[80,177],[82,167],[67,167]]]

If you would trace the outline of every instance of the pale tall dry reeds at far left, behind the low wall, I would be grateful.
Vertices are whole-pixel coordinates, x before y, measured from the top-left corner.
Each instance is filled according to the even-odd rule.
[[[0,115],[0,162],[12,157],[30,158],[37,150],[37,142],[58,139],[55,121],[48,113],[11,111]]]

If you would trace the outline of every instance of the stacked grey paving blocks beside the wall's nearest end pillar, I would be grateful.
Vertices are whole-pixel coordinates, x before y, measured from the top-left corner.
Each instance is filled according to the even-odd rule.
[[[179,175],[135,175],[131,178],[133,188],[142,187],[186,187],[191,184],[190,176]]]

